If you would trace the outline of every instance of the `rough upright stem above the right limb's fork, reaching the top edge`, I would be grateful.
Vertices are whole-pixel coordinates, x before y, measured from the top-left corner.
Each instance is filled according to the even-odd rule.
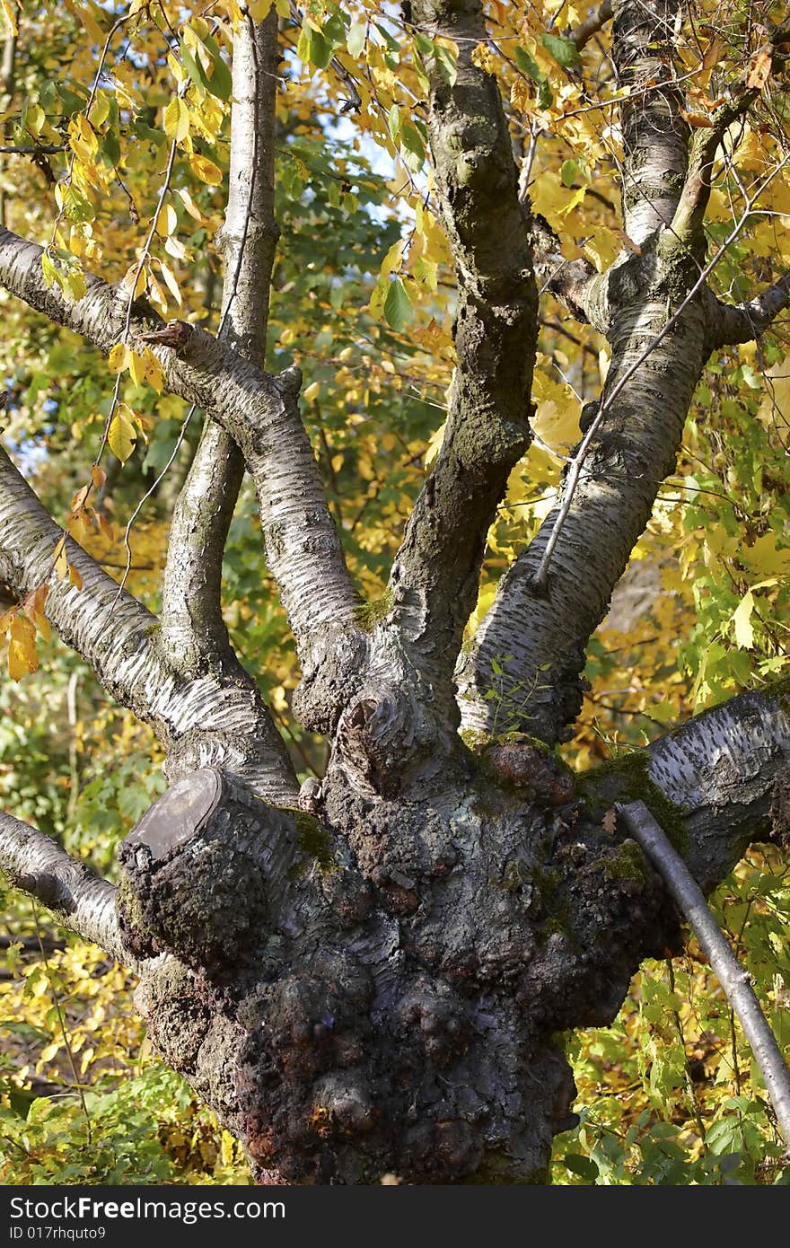
[[[620,105],[623,220],[639,245],[670,223],[686,173],[684,99],[668,79],[679,12],[679,0],[614,0],[613,59],[632,92]]]

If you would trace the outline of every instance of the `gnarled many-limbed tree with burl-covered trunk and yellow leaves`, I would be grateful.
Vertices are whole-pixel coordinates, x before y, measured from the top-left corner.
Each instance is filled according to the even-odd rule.
[[[609,1022],[640,961],[678,947],[661,881],[615,802],[644,800],[705,890],[750,842],[786,832],[790,723],[781,683],[768,679],[784,665],[773,640],[786,564],[785,513],[771,510],[781,478],[759,529],[744,522],[734,534],[731,508],[725,529],[749,549],[770,545],[779,573],[736,585],[729,609],[733,679],[754,688],[598,771],[573,773],[555,749],[572,736],[590,638],[675,469],[700,379],[711,411],[719,403],[716,437],[736,443],[719,353],[734,369],[733,348],[763,343],[790,303],[790,276],[770,271],[764,236],[768,223],[781,248],[788,228],[773,198],[788,187],[779,80],[790,31],[780,7],[733,4],[703,30],[704,5],[685,11],[676,0],[615,0],[589,14],[510,11],[495,0],[488,11],[480,0],[412,0],[379,14],[316,0],[297,14],[293,49],[287,4],[247,10],[231,0],[216,19],[132,4],[112,25],[85,4],[77,52],[72,31],[57,35],[70,17],[35,15],[69,56],[94,62],[92,89],[70,96],[47,79],[45,90],[51,65],[29,54],[39,102],[26,102],[6,150],[32,149],[39,167],[66,163],[52,243],[4,226],[0,281],[109,357],[116,381],[101,453],[109,444],[130,459],[146,421],[127,398],[146,382],[206,422],[175,500],[156,614],[61,532],[0,454],[11,676],[35,669],[36,629],[46,636],[51,623],[151,726],[170,785],[120,846],[117,886],[11,814],[0,816],[1,862],[64,926],[137,971],[155,1045],[242,1141],[262,1181],[361,1183],[394,1172],[407,1182],[540,1182],[553,1134],[574,1121],[559,1033]],[[610,42],[599,42],[609,22]],[[109,75],[119,31],[131,42]],[[232,42],[232,80],[215,36]],[[277,122],[277,84],[295,56],[312,69],[290,130],[287,101]],[[342,116],[326,120],[322,90]],[[610,121],[585,129],[590,114],[612,119],[615,106],[619,131]],[[205,248],[222,193],[227,116],[216,240],[225,282],[211,333],[195,308],[163,317],[185,301],[190,257],[178,231],[191,217],[201,231],[192,248]],[[352,342],[378,317],[378,342],[401,352],[403,371],[411,357],[441,377],[451,352],[438,275],[451,281],[448,260],[454,273],[447,421],[386,588],[367,600],[349,572],[353,529],[327,500],[338,493],[331,448],[324,456],[318,442],[317,457],[300,411],[300,369],[262,368],[278,263],[277,125],[288,185],[305,170],[300,141],[315,151],[351,127],[401,161],[411,250],[398,231],[369,307],[343,311]],[[540,142],[549,155],[537,175]],[[366,151],[363,142],[359,185]],[[558,161],[557,151],[570,155]],[[351,175],[337,181],[329,202],[344,196],[352,216]],[[564,202],[547,188],[565,188]],[[713,196],[720,207],[728,195],[733,220],[723,225]],[[131,205],[126,226],[114,196]],[[587,196],[608,223],[584,217],[579,233],[595,227],[585,251],[570,218]],[[367,226],[374,220],[371,210]],[[328,268],[329,250],[321,255]],[[97,260],[125,276],[102,280],[90,271]],[[195,262],[192,298],[211,272]],[[721,272],[735,298],[716,293]],[[277,364],[288,293],[296,302],[302,292],[282,273],[275,291],[285,322],[270,347]],[[563,310],[549,318],[553,341],[582,343],[569,367],[583,383],[584,351],[598,367],[590,342],[610,357],[599,397],[580,409],[555,384],[543,411],[530,398],[548,393],[537,368],[545,295]],[[332,307],[339,316],[339,301]],[[433,316],[409,338],[414,308]],[[585,326],[600,338],[579,338]],[[764,363],[781,357],[771,349]],[[306,403],[319,391],[308,386]],[[498,509],[524,500],[519,472],[547,479],[524,457],[533,426],[562,417],[563,403],[580,418],[580,441],[560,457],[552,505],[490,600]],[[349,416],[364,399],[352,407]],[[321,419],[308,421],[318,438]],[[771,446],[784,453],[781,439]],[[358,468],[367,452],[353,437],[348,447]],[[17,449],[25,467],[21,437]],[[90,479],[71,499],[70,527],[86,545],[106,525],[107,474],[91,453]],[[242,665],[266,656],[240,654],[222,615],[222,557],[245,469],[296,645],[290,713],[327,743],[321,779],[301,786]],[[357,567],[363,584],[368,572]],[[754,651],[749,673],[744,651]],[[698,666],[698,688],[708,680],[716,700],[713,659],[708,675]]]

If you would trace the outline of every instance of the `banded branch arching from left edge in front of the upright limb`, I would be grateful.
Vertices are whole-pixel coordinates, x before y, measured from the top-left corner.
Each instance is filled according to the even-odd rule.
[[[87,275],[84,298],[69,302],[45,285],[41,248],[2,228],[0,283],[105,353],[121,338],[126,300],[120,291]],[[302,668],[310,668],[337,629],[353,626],[357,599],[300,416],[300,373],[287,369],[272,377],[205,329],[183,322],[166,327],[142,301],[135,308],[130,346],[152,342],[167,388],[203,408],[245,454],[261,504],[268,565]]]

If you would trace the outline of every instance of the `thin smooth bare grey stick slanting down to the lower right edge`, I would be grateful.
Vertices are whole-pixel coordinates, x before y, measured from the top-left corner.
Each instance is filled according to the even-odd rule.
[[[790,1154],[790,1071],[760,1007],[748,972],[733,953],[714,921],[694,876],[668,841],[660,824],[643,801],[619,806],[639,842],[666,885],[681,915],[688,920],[725,996],[740,1020],[744,1035],[760,1067],[768,1094]]]

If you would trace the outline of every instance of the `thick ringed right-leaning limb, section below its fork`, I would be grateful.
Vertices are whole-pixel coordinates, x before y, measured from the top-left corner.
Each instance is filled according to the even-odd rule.
[[[634,261],[635,267],[641,263]],[[614,270],[612,280],[628,282],[628,271]],[[605,409],[573,495],[565,498],[565,478],[537,538],[502,578],[474,646],[461,659],[462,721],[475,731],[520,730],[552,744],[569,735],[565,725],[582,704],[587,643],[605,615],[661,480],[674,469],[706,358],[703,305],[694,301],[658,341],[666,302],[659,302],[658,292],[644,292],[629,306],[625,293],[610,290],[612,306],[622,311],[612,331]],[[627,378],[653,341],[649,358]],[[543,584],[538,573],[549,540],[555,545]]]

